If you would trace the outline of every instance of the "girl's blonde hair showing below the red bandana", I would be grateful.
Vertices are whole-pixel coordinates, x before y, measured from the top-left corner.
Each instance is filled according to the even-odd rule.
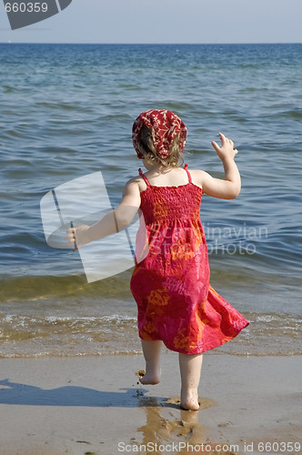
[[[166,158],[162,158],[157,154],[151,129],[144,125],[140,130],[137,147],[150,165],[161,163],[166,167],[180,167],[184,163],[182,149],[179,145],[179,135],[173,139],[169,147],[169,155]]]

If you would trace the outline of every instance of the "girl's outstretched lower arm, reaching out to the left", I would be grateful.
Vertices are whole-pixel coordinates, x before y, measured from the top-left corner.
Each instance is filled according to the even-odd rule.
[[[92,226],[82,225],[67,230],[68,245],[76,243],[81,248],[87,243],[115,234],[129,226],[140,206],[140,192],[136,179],[129,180],[124,188],[120,204]]]

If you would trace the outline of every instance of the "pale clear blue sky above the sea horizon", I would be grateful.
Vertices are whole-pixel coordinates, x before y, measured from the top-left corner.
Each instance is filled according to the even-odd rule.
[[[0,42],[301,43],[301,19],[302,0],[73,0],[12,31],[1,1]]]

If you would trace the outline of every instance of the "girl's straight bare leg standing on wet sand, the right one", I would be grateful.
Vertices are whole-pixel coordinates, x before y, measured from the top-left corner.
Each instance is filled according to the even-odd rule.
[[[181,377],[180,406],[184,410],[198,410],[198,385],[200,380],[202,354],[179,354]]]

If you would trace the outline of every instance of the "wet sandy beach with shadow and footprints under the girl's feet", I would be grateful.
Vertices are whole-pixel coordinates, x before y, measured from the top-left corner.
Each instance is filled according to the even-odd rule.
[[[0,363],[1,455],[302,453],[298,356],[206,354],[197,412],[179,408],[172,352],[156,386],[141,355]]]

